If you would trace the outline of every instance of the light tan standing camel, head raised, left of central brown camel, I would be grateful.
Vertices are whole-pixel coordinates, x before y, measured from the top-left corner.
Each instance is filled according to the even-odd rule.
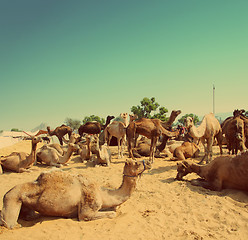
[[[118,158],[123,158],[123,145],[126,136],[126,128],[128,125],[128,114],[121,113],[118,121],[113,121],[104,129],[105,142],[110,145],[112,137],[117,138],[118,142]]]

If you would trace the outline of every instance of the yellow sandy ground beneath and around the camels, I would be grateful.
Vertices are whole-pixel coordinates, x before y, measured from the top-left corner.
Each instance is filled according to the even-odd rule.
[[[0,155],[12,151],[30,152],[30,149],[30,141],[22,141],[1,148]],[[117,148],[111,147],[111,150],[113,163],[108,168],[92,167],[74,156],[70,165],[62,169],[85,174],[101,186],[118,188],[126,158],[117,159]],[[216,154],[219,152],[217,147],[214,150]],[[0,175],[0,209],[3,196],[10,188],[33,181],[48,169],[40,165],[32,167],[29,173]],[[0,239],[247,239],[248,193],[229,189],[210,191],[187,181],[175,181],[175,177],[176,162],[155,159],[152,170],[142,175],[131,198],[117,209],[116,218],[91,222],[56,217],[20,220],[22,228],[0,227]],[[187,179],[196,177],[191,174]]]

